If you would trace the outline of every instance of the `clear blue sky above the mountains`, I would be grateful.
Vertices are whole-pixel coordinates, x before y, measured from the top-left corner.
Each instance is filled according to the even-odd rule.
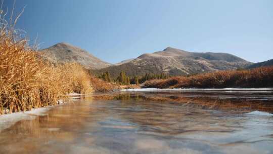
[[[169,46],[273,59],[272,0],[17,0],[16,11],[25,5],[17,27],[40,48],[67,42],[110,63]]]

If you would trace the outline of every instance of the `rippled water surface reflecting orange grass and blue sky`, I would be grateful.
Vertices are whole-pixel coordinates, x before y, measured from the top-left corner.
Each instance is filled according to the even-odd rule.
[[[122,92],[0,133],[0,153],[273,153],[272,93]]]

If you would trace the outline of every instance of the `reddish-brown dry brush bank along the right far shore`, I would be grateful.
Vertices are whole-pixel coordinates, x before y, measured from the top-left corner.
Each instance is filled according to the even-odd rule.
[[[143,88],[260,88],[273,87],[273,66],[250,70],[226,70],[167,80],[151,80]]]

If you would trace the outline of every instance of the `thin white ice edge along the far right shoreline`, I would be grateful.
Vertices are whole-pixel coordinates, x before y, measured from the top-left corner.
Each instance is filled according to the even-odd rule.
[[[188,89],[158,89],[158,88],[141,88],[141,89],[121,89],[120,91],[273,91],[273,88],[188,88]]]

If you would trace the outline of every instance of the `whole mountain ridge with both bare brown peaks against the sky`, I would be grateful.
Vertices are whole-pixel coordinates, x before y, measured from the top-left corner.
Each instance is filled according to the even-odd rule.
[[[114,78],[120,71],[125,71],[129,76],[146,73],[189,75],[245,68],[253,64],[228,53],[189,52],[172,47],[153,53],[144,53],[137,58],[127,59],[117,64],[110,64],[84,49],[63,42],[39,50],[38,55],[53,62],[78,62],[95,74],[109,71]]]

